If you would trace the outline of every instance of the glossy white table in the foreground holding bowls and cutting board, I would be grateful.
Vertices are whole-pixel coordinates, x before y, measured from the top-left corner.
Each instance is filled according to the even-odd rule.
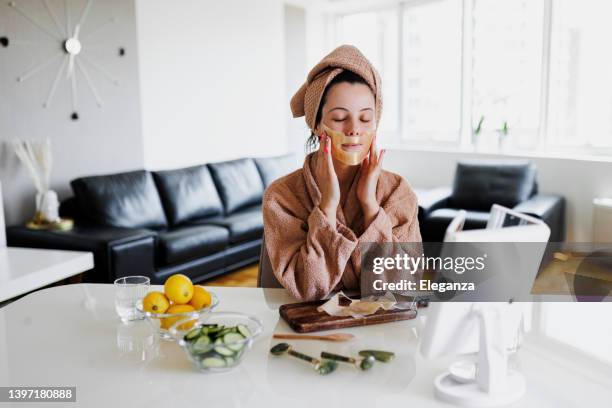
[[[112,285],[79,284],[45,289],[0,309],[0,385],[76,386],[77,404],[66,406],[83,407],[449,406],[434,399],[433,379],[452,359],[425,360],[417,352],[422,318],[345,329],[356,335],[347,343],[294,341],[311,354],[323,348],[397,354],[369,372],[341,366],[319,376],[306,363],[268,353],[277,343],[272,333],[289,331],[277,310],[291,300],[284,290],[212,290],[218,310],[247,312],[264,323],[262,336],[233,371],[195,371],[178,345],[155,340],[146,322],[119,322]],[[569,370],[562,356],[526,344],[512,363],[528,381],[516,407],[610,406],[611,380]]]

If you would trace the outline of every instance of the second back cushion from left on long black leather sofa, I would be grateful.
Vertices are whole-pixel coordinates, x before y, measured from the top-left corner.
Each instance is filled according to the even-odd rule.
[[[170,225],[223,213],[206,165],[153,173]]]

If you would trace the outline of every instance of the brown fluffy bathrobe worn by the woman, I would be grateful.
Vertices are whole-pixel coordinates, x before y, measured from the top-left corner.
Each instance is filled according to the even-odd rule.
[[[359,289],[360,242],[421,242],[416,195],[401,176],[385,170],[378,179],[380,208],[372,223],[364,230],[357,174],[332,228],[319,209],[316,157],[316,152],[309,154],[302,169],[273,182],[263,198],[264,237],[274,275],[299,300]]]

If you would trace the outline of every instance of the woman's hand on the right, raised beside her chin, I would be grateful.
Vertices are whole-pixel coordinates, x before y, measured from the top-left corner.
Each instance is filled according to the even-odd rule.
[[[361,174],[357,184],[357,198],[363,211],[364,229],[374,221],[376,214],[378,214],[379,204],[376,201],[376,186],[378,185],[378,177],[382,169],[384,154],[385,150],[382,150],[380,153],[378,152],[376,148],[376,135],[374,135],[370,145],[370,152],[361,162]]]

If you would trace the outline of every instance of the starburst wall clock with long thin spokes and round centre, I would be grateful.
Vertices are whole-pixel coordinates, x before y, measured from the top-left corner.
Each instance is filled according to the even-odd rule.
[[[90,69],[98,71],[112,84],[119,85],[119,81],[114,78],[113,75],[109,73],[108,70],[104,68],[102,64],[98,63],[95,58],[93,58],[91,55],[87,55],[86,52],[88,48],[87,40],[102,32],[109,26],[109,24],[114,23],[115,19],[111,18],[106,20],[100,26],[89,30],[85,36],[82,36],[82,29],[87,22],[87,16],[91,11],[93,0],[86,0],[85,3],[79,2],[78,5],[80,6],[80,12],[75,14],[78,15],[78,18],[74,20],[74,25],[72,24],[72,4],[74,3],[73,1],[63,1],[63,19],[60,19],[58,17],[57,10],[52,7],[51,4],[49,4],[49,0],[41,0],[40,3],[40,7],[43,9],[41,13],[48,14],[50,20],[54,24],[53,28],[49,28],[39,19],[37,19],[35,15],[32,15],[28,11],[23,9],[18,4],[18,2],[10,1],[8,5],[22,18],[27,20],[32,27],[51,37],[51,39],[58,46],[58,52],[53,54],[51,57],[39,62],[35,66],[25,70],[23,73],[17,76],[17,81],[27,81],[35,75],[43,72],[43,70],[45,70],[46,68],[49,68],[54,62],[57,62],[58,59],[61,59],[62,62],[59,68],[57,69],[57,72],[55,73],[53,81],[51,81],[51,83],[49,84],[47,95],[42,103],[42,106],[43,108],[50,107],[51,103],[53,102],[53,98],[57,92],[57,88],[61,84],[67,84],[67,86],[70,87],[72,103],[72,113],[70,115],[70,118],[72,120],[78,120],[79,110],[77,71],[79,71],[82,78],[85,80],[85,84],[91,91],[98,107],[102,107],[103,101],[100,97],[100,93],[98,92],[98,88],[96,87],[96,84],[94,83],[94,80],[90,75]],[[57,4],[59,2],[54,3]],[[0,37],[0,46],[6,48],[10,45],[10,37]],[[118,55],[119,57],[123,57],[125,55],[125,48],[119,47]]]

